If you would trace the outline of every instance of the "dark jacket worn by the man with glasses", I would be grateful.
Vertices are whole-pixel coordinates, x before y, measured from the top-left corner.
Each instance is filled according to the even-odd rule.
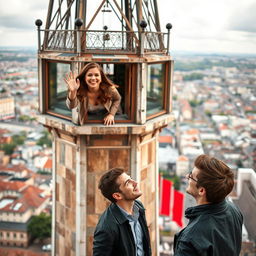
[[[187,227],[174,238],[175,256],[239,256],[243,216],[229,201],[190,207]]]

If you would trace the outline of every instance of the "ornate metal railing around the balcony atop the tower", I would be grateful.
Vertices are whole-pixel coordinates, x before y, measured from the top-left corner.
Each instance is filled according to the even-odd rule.
[[[44,33],[44,41],[39,51],[74,53],[78,51],[82,53],[108,51],[136,54],[143,47],[146,53],[167,52],[168,33],[162,32],[139,34],[139,32],[130,31],[40,30],[40,33]]]

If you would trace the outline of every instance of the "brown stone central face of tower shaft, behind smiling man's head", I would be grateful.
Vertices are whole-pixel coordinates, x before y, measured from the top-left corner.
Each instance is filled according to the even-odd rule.
[[[104,135],[87,138],[87,254],[92,255],[93,233],[100,215],[109,205],[98,189],[103,173],[113,167],[130,170],[128,136]]]

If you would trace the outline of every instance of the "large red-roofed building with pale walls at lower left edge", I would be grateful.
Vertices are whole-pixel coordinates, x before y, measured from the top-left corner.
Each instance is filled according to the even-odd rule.
[[[44,191],[21,181],[0,180],[0,246],[27,247],[31,217],[49,203]]]

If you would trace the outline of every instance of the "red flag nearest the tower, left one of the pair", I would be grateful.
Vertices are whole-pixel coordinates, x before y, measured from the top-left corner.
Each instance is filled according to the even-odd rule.
[[[170,180],[159,178],[159,215],[170,217],[172,214],[172,182]]]

